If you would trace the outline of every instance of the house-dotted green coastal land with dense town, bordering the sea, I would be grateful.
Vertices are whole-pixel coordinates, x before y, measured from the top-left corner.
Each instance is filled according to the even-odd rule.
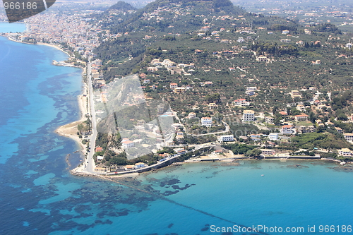
[[[135,14],[138,23],[130,29],[112,25]],[[184,18],[194,24],[179,30]],[[94,172],[141,171],[175,159],[349,161],[352,34],[328,21],[274,20],[269,24],[240,9],[206,15],[196,6],[171,3],[140,14],[132,7],[49,12],[26,19],[25,32],[6,36],[55,45],[69,55],[56,65],[85,69],[83,95],[94,114],[88,111],[77,133]],[[114,110],[112,101],[131,74],[135,93],[119,100],[124,109]],[[115,116],[107,125],[106,109],[120,112],[121,121]],[[86,125],[92,119],[97,140],[94,124]],[[109,131],[99,131],[100,125]],[[80,170],[85,168],[84,161]]]

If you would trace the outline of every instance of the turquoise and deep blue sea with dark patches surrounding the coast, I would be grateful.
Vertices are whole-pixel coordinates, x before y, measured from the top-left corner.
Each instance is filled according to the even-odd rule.
[[[280,234],[216,232],[238,225],[353,234],[353,173],[332,162],[176,164],[116,181],[72,176],[78,146],[54,130],[78,119],[82,83],[80,69],[52,65],[64,59],[52,47],[0,37],[1,235]]]

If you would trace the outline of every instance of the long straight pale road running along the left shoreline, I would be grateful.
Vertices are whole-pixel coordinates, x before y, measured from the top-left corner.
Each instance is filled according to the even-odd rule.
[[[87,63],[87,86],[88,86],[88,97],[90,102],[92,135],[90,136],[90,152],[88,152],[88,157],[87,159],[85,159],[86,167],[84,171],[87,171],[89,173],[95,173],[95,161],[93,160],[93,155],[95,154],[95,139],[97,138],[97,119],[95,118],[95,102],[94,102],[94,96],[93,96],[90,63]]]

